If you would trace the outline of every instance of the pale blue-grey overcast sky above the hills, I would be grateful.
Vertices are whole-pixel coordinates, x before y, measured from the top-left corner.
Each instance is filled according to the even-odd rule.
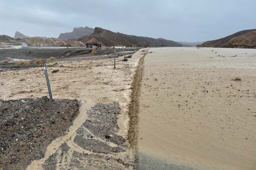
[[[58,37],[74,27],[173,41],[256,29],[255,0],[0,0],[0,35]]]

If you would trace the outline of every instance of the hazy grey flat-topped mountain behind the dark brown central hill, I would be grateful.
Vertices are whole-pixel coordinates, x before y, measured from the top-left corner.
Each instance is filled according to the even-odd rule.
[[[71,33],[61,33],[58,37],[59,40],[70,40],[70,39],[78,39],[86,35],[90,35],[94,32],[93,28],[89,27],[78,27],[74,28]]]

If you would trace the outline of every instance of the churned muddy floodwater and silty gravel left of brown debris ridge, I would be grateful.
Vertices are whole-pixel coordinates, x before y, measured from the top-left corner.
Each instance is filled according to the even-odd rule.
[[[44,157],[31,160],[27,169],[133,169],[126,140],[127,105],[143,55],[140,50],[126,62],[117,58],[116,69],[113,59],[49,63],[53,98],[77,99],[82,104],[66,135],[53,140]],[[0,72],[0,81],[3,100],[48,96],[43,68]]]

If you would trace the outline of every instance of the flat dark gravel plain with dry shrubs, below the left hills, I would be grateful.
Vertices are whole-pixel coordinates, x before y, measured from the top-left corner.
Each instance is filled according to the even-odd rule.
[[[135,51],[140,48],[135,48]],[[13,69],[27,69],[31,67],[38,67],[39,64],[33,64],[34,58],[41,58],[43,62],[45,59],[53,56],[56,58],[54,62],[58,61],[80,61],[80,60],[99,60],[114,57],[114,49],[97,49],[96,54],[92,54],[92,48],[28,48],[20,49],[1,49],[0,50],[0,71]],[[117,56],[123,55],[122,48],[116,48]],[[69,53],[69,56],[66,54]],[[125,54],[133,54],[133,48],[125,48]],[[10,62],[3,63],[3,60],[8,59]],[[15,65],[17,60],[29,61],[30,65]],[[53,62],[53,61],[52,61]]]

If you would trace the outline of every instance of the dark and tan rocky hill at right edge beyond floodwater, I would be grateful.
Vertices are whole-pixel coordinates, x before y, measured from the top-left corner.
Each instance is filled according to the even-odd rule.
[[[255,31],[256,29],[239,31],[222,39],[204,42],[197,47],[254,48],[256,46],[253,44],[256,40]]]

